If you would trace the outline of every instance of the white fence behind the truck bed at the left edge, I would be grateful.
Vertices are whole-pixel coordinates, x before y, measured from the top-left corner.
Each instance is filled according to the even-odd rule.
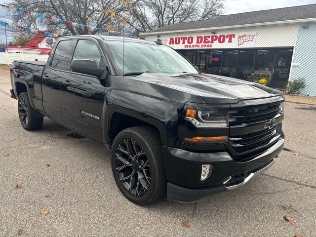
[[[10,65],[13,60],[47,61],[48,55],[35,53],[0,53],[0,64]]]

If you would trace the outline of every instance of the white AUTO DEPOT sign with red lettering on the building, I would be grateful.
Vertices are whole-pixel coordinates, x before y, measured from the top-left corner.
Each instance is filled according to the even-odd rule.
[[[161,37],[161,42],[175,49],[191,48],[251,48],[255,47],[256,32],[206,34],[197,36]]]

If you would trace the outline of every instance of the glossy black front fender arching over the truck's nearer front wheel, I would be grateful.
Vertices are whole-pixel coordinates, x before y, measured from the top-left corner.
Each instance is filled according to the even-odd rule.
[[[162,144],[170,147],[179,145],[179,122],[183,104],[178,108],[166,101],[125,91],[109,91],[103,107],[103,139],[111,146],[110,122],[114,113],[137,118],[156,127]],[[111,97],[111,101],[108,99]]]

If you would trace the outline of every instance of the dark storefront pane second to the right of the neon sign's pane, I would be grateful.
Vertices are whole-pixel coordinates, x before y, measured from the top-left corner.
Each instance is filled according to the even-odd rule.
[[[237,78],[252,81],[256,50],[239,50]]]

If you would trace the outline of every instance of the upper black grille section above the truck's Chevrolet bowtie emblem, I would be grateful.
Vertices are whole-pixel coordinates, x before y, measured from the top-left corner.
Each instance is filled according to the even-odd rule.
[[[230,112],[230,126],[242,123],[254,123],[274,118],[280,110],[279,103],[260,106],[250,106],[233,109]]]

